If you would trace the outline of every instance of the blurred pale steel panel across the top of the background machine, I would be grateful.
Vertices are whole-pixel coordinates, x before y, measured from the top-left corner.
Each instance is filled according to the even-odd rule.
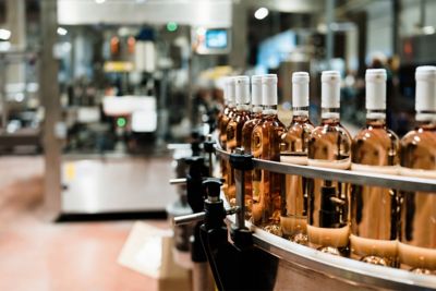
[[[175,22],[180,25],[230,27],[231,4],[231,0],[110,0],[102,4],[96,1],[58,0],[58,21],[62,25],[166,25]]]

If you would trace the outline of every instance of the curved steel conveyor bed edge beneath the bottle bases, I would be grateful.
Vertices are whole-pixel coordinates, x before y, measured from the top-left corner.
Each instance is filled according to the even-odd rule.
[[[223,196],[223,195],[222,195]],[[235,217],[227,219],[234,223]],[[376,266],[334,256],[300,245],[253,226],[254,244],[279,257],[275,290],[428,290],[436,289],[435,276]]]

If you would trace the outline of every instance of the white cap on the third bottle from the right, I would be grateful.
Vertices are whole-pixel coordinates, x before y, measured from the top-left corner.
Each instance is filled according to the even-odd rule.
[[[320,75],[322,108],[340,107],[340,74],[338,71],[324,71]]]

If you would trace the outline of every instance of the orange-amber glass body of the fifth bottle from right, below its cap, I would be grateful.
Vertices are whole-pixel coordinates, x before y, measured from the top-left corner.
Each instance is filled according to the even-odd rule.
[[[264,117],[252,133],[252,155],[258,159],[280,161],[284,125],[277,117],[277,106],[266,107]],[[283,175],[266,170],[253,171],[252,221],[264,230],[281,235],[280,204]]]

